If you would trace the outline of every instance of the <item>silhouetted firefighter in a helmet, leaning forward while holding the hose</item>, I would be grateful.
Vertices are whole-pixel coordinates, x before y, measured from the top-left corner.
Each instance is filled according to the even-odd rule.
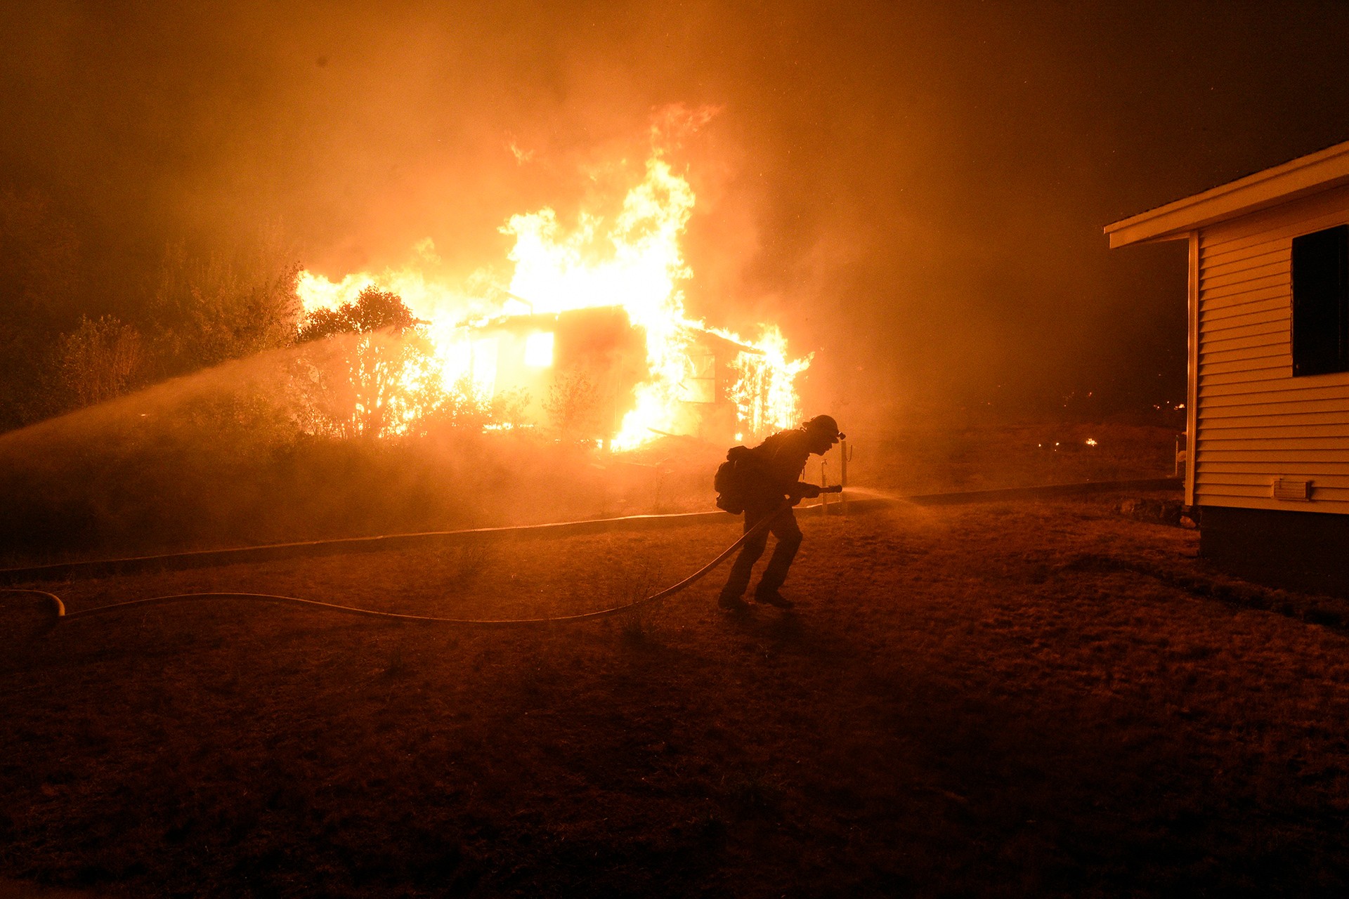
[[[843,434],[839,433],[838,422],[828,415],[816,415],[796,430],[778,431],[747,452],[751,464],[743,466],[745,530],[749,531],[769,515],[776,514],[777,518],[741,547],[741,554],[731,566],[731,576],[722,588],[719,605],[723,609],[747,608],[743,598],[745,588],[750,584],[754,563],[768,547],[769,531],[777,538],[777,546],[773,547],[773,557],[754,588],[754,601],[776,605],[780,609],[795,605],[778,592],[786,580],[786,570],[792,566],[796,550],[801,546],[801,528],[796,524],[792,505],[820,495],[819,487],[801,481],[805,460],[811,453],[824,456],[840,438]],[[792,505],[778,511],[788,497]]]

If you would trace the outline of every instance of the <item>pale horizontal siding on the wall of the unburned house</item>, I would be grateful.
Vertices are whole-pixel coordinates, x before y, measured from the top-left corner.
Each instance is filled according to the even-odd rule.
[[[1349,514],[1349,372],[1294,377],[1290,341],[1292,239],[1346,222],[1337,187],[1199,230],[1197,504]]]

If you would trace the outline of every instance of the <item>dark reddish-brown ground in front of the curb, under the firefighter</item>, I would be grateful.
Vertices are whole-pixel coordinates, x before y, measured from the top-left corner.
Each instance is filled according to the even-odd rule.
[[[588,624],[3,597],[0,875],[109,896],[1344,895],[1349,631],[1120,497],[801,515]],[[631,600],[724,523],[36,585],[429,615]],[[1264,608],[1257,608],[1264,607]],[[26,612],[28,609],[28,612]]]

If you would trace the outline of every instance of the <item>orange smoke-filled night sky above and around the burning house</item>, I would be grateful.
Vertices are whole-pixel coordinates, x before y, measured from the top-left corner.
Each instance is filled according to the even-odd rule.
[[[815,350],[808,410],[1184,391],[1184,251],[1102,225],[1349,137],[1342,4],[12,4],[0,189],[128,321],[167,243],[279,228],[339,276],[567,221],[672,151],[691,310]]]

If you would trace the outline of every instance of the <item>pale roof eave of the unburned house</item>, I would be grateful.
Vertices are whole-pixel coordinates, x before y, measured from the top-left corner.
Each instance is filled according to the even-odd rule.
[[[1349,183],[1349,142],[1105,226],[1110,248],[1179,240],[1191,230]]]

